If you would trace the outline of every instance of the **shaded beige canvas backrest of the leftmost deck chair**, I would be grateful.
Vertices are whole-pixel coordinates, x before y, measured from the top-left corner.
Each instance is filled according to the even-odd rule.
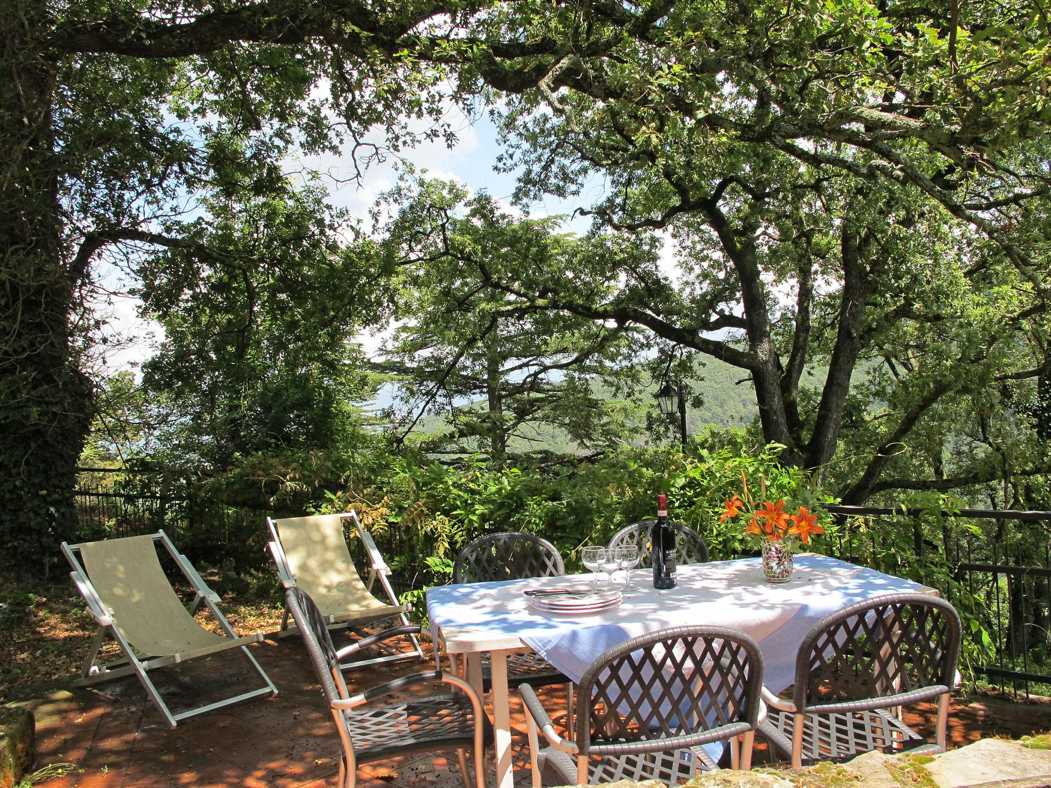
[[[220,636],[202,628],[176,596],[153,541],[152,535],[128,536],[77,548],[91,586],[139,651],[164,657],[214,646]]]

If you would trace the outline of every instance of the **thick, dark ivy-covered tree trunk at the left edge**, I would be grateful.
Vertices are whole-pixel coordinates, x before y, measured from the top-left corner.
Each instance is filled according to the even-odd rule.
[[[73,490],[91,388],[70,353],[79,273],[60,231],[45,0],[0,4],[0,565],[42,577],[76,533]]]

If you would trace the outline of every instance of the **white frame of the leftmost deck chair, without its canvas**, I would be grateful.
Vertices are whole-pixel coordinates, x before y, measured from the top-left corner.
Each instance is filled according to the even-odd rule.
[[[127,638],[120,630],[120,622],[114,617],[112,610],[110,610],[105,602],[103,602],[102,597],[96,590],[95,585],[91,583],[87,572],[81,565],[81,562],[77,558],[77,554],[81,551],[80,544],[69,544],[68,542],[62,542],[61,549],[62,554],[69,561],[69,564],[74,567],[74,571],[69,573],[69,577],[73,579],[74,584],[80,592],[81,596],[84,598],[84,602],[87,605],[87,611],[95,619],[95,623],[99,625],[98,630],[95,634],[95,640],[91,643],[91,649],[84,660],[83,667],[81,668],[81,675],[79,679],[74,681],[74,686],[83,687],[89,686],[91,684],[97,684],[103,681],[109,681],[111,679],[119,679],[124,676],[131,676],[132,673],[139,679],[140,683],[149,696],[149,699],[153,702],[157,708],[160,710],[161,714],[164,717],[165,722],[169,728],[174,728],[180,720],[185,720],[189,717],[195,717],[198,714],[203,714],[207,711],[211,711],[217,708],[223,708],[225,706],[230,706],[234,703],[240,703],[241,701],[247,701],[252,698],[259,698],[261,696],[275,696],[277,694],[277,687],[274,686],[273,682],[270,681],[270,677],[266,675],[263,668],[256,662],[255,658],[252,656],[251,651],[248,650],[248,643],[257,643],[263,640],[263,634],[257,633],[253,636],[241,637],[230,626],[230,623],[226,620],[226,617],[220,611],[217,603],[220,601],[220,597],[215,592],[208,587],[204,579],[193,567],[193,564],[189,562],[186,556],[179,553],[176,549],[176,545],[168,538],[168,535],[164,531],[158,531],[156,534],[150,534],[150,538],[153,540],[154,546],[160,543],[167,551],[168,555],[174,560],[176,564],[179,566],[180,571],[186,577],[190,586],[193,588],[193,599],[190,600],[189,604],[186,605],[187,611],[192,616],[197,609],[204,604],[208,611],[211,614],[212,618],[219,623],[220,628],[223,633],[231,639],[229,643],[220,644],[213,649],[198,650],[189,655],[182,654],[171,654],[162,656],[143,656],[137,652],[135,647],[128,642]],[[102,648],[103,643],[105,643],[106,638],[112,638],[117,641],[121,652],[124,655],[122,659],[114,660],[111,662],[97,664],[96,659],[99,656],[99,651]],[[230,648],[239,648],[245,658],[251,664],[252,668],[260,675],[260,677],[265,682],[266,686],[260,689],[253,689],[249,692],[242,692],[240,694],[233,696],[232,698],[227,698],[223,701],[217,701],[215,703],[207,703],[203,706],[197,706],[194,708],[188,709],[186,711],[180,711],[174,713],[168,708],[168,704],[164,702],[161,697],[160,691],[153,684],[152,680],[148,676],[148,671],[154,670],[159,667],[167,667],[169,665],[176,665],[184,660],[193,659],[195,657],[209,656],[211,654],[218,654]]]

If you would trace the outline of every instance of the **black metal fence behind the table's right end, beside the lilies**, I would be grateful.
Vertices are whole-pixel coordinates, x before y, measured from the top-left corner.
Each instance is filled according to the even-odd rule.
[[[940,588],[964,618],[974,673],[1051,694],[1051,512],[831,506],[844,560]]]

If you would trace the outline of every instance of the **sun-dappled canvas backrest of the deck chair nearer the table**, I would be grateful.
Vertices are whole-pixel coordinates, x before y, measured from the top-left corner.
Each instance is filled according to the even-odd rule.
[[[268,518],[295,584],[311,599],[332,600],[337,607],[355,602],[363,608],[375,606],[376,598],[365,587],[350,557],[343,521],[339,515]]]

